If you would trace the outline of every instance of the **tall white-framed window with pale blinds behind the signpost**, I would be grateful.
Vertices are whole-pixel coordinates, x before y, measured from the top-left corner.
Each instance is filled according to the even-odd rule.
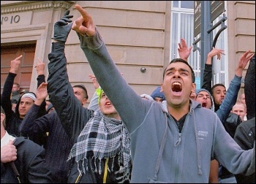
[[[217,23],[223,15],[220,15],[219,18],[214,20],[214,25]],[[173,58],[179,58],[178,55],[178,43],[181,41],[181,38],[184,38],[187,42],[187,46],[192,46],[194,39],[200,37],[200,34],[194,38],[194,1],[172,1],[171,8],[171,37],[170,37],[170,60]],[[226,21],[227,22],[227,21]],[[227,23],[225,22],[225,25]],[[219,31],[221,26],[218,26],[213,31],[213,38]],[[222,31],[222,33],[218,37],[218,41],[216,44],[216,48],[220,48],[225,50],[225,56],[222,56],[221,61],[213,60],[213,80],[212,85],[216,83],[222,83],[228,88],[228,77],[227,77],[227,30]],[[197,47],[200,47],[200,42],[197,43]],[[194,48],[192,48],[193,50]],[[191,51],[188,62],[192,69],[194,69],[197,88],[200,88],[200,53],[199,50],[195,50],[195,52]],[[203,66],[204,67],[204,66]],[[226,70],[225,70],[226,69]]]

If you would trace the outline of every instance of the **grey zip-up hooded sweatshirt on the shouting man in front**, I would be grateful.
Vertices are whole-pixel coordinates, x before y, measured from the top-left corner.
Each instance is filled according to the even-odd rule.
[[[255,172],[255,147],[242,150],[215,112],[190,101],[180,133],[166,101],[144,100],[124,80],[98,31],[78,37],[99,85],[129,130],[131,183],[208,183],[214,158],[234,174]]]

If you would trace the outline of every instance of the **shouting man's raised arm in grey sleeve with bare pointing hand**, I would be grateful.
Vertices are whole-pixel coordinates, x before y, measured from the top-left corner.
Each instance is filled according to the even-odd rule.
[[[127,123],[129,131],[133,131],[136,126],[143,122],[147,108],[150,107],[152,101],[143,100],[127,84],[110,57],[97,27],[94,26],[91,15],[78,4],[75,5],[75,8],[78,9],[81,16],[75,20],[72,29],[78,32],[80,47],[86,54],[100,87],[106,93],[124,123],[129,121],[129,125]],[[148,106],[143,106],[143,104],[148,104]],[[146,109],[143,109],[143,107]],[[138,109],[142,113],[138,113]]]

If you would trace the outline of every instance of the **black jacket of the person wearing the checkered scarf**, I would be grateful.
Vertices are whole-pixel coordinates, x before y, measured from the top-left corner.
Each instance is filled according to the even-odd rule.
[[[83,127],[94,115],[94,111],[83,107],[74,95],[67,75],[67,59],[64,54],[64,46],[65,43],[53,43],[52,52],[48,55],[50,61],[48,64],[48,95],[67,136],[74,145]],[[74,159],[71,160],[70,167],[73,169],[69,173],[69,182],[75,183],[79,173]],[[95,178],[94,172],[90,172],[86,176],[88,176],[86,183],[96,182],[92,179]]]

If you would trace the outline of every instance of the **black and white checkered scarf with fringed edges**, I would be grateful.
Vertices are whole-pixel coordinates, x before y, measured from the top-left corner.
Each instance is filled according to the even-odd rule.
[[[102,158],[112,158],[116,155],[121,164],[120,169],[124,170],[124,175],[129,175],[132,160],[127,127],[121,120],[109,118],[97,110],[94,112],[94,117],[86,123],[81,131],[77,143],[71,149],[68,160],[75,157],[75,161],[79,164],[84,159],[98,158],[101,161]],[[85,173],[85,167],[87,170],[88,167],[84,164],[83,170],[80,170],[80,166],[78,166],[79,172]],[[98,168],[98,171],[101,174],[102,169]]]

